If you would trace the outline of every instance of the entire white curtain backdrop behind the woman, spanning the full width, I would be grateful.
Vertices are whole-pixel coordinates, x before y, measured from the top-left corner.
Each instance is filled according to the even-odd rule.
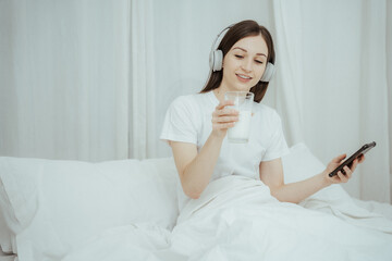
[[[168,157],[170,102],[199,91],[217,34],[270,28],[265,103],[290,145],[324,163],[376,140],[346,190],[391,201],[392,7],[388,0],[0,1],[0,154],[89,161]]]

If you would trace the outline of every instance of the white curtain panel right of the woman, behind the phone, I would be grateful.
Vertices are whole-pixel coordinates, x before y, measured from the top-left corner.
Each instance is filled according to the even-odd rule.
[[[343,186],[358,198],[389,202],[392,99],[385,36],[392,14],[387,1],[273,3],[281,58],[277,108],[287,140],[305,141],[326,163],[376,140],[377,148]]]

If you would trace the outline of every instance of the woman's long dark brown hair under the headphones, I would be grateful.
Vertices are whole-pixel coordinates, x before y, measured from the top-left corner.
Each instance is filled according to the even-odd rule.
[[[267,62],[274,64],[275,54],[273,48],[273,40],[271,34],[268,29],[257,22],[253,20],[245,20],[240,23],[236,23],[224,35],[221,42],[218,46],[218,49],[223,52],[223,58],[230,51],[230,49],[237,42],[238,40],[248,37],[248,36],[258,36],[265,39],[268,48],[268,58]],[[218,88],[222,82],[223,70],[211,72],[211,76],[208,78],[206,86],[203,88],[200,94],[207,92]],[[250,88],[250,92],[254,92],[255,98],[254,101],[260,102],[266,95],[268,88],[268,82],[258,82],[254,87]]]

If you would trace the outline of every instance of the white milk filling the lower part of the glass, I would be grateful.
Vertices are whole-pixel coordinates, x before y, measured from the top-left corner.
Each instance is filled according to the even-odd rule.
[[[240,111],[238,121],[228,129],[230,142],[246,144],[249,138],[252,111]]]

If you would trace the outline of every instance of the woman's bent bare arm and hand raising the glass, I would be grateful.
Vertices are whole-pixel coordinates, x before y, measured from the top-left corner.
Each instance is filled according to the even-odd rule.
[[[212,113],[212,132],[199,153],[194,144],[170,141],[181,185],[193,199],[200,197],[209,184],[226,130],[238,121],[238,113],[226,105],[233,105],[233,101],[221,102]]]

